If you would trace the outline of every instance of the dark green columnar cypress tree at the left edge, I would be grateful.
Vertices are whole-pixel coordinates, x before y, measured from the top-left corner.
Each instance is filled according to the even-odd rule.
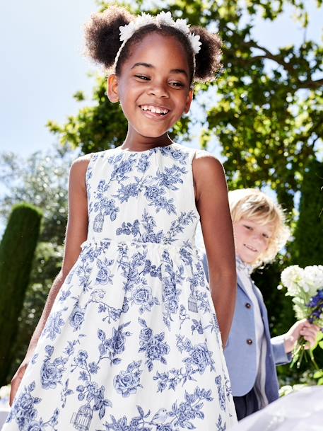
[[[11,345],[28,287],[42,212],[29,204],[13,207],[0,243],[0,386],[11,363]]]

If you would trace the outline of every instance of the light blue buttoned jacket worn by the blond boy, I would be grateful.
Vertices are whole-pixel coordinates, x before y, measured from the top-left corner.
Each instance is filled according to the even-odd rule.
[[[204,271],[209,279],[209,268],[206,255],[203,258]],[[290,362],[291,355],[286,354],[283,337],[271,338],[269,333],[269,321],[264,299],[260,290],[253,284],[262,321],[264,323],[264,337],[266,338],[266,373],[265,393],[269,403],[278,398],[278,379],[276,365]],[[245,287],[237,275],[237,299],[235,302],[235,314],[225,346],[224,355],[228,366],[233,396],[243,396],[248,393],[255,384],[257,378],[257,352],[254,327],[254,307]]]

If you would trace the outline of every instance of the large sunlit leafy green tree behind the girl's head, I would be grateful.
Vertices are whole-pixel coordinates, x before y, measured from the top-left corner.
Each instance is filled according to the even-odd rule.
[[[316,4],[322,7],[322,0]],[[104,9],[107,4],[98,1],[98,6]],[[261,14],[264,20],[275,21],[286,6],[293,6],[304,40],[300,46],[271,52],[254,38],[256,17]],[[151,3],[136,1],[135,7],[143,11]],[[163,8],[175,17],[188,18],[192,25],[216,28],[224,41],[222,76],[216,84],[198,86],[201,96],[209,92],[208,103],[201,103],[207,112],[201,144],[206,147],[216,137],[232,188],[269,185],[291,211],[305,163],[315,158],[323,135],[323,47],[306,38],[310,23],[306,2],[177,0]],[[49,122],[49,130],[84,152],[121,144],[126,123],[105,91],[105,79],[99,77],[93,88],[94,105],[82,108],[64,125]],[[83,93],[76,93],[76,98],[84,100]],[[189,139],[192,122],[189,118],[175,126],[177,137]]]

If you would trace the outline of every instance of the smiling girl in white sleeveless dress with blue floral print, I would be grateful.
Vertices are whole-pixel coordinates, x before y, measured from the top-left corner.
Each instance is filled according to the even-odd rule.
[[[4,431],[225,430],[236,421],[221,345],[235,301],[225,176],[168,136],[192,82],[214,78],[220,42],[170,13],[134,18],[116,6],[93,16],[86,41],[112,69],[108,96],[128,133],[71,167],[63,268],[13,378]]]

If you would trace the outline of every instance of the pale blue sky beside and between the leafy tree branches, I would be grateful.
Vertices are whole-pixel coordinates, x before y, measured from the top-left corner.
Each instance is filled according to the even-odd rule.
[[[307,38],[322,41],[323,8],[307,0],[311,25]],[[0,151],[27,156],[47,149],[55,137],[48,120],[64,122],[77,112],[72,95],[90,96],[88,71],[95,67],[83,57],[83,24],[98,11],[94,0],[18,0],[0,6]],[[255,38],[276,50],[303,40],[303,30],[291,20],[292,9],[276,23],[257,21]]]

